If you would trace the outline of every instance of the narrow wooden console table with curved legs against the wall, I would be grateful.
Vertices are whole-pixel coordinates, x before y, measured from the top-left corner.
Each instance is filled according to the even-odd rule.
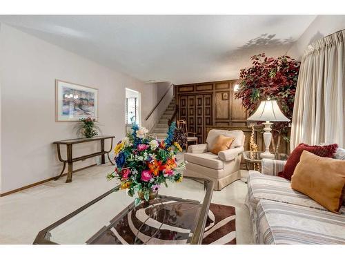
[[[59,141],[55,141],[53,142],[53,144],[57,144],[57,155],[59,157],[60,162],[63,162],[63,169],[60,173],[59,176],[57,176],[57,178],[55,178],[55,181],[58,180],[60,178],[60,176],[62,175],[63,171],[66,168],[66,163],[68,164],[68,171],[67,171],[67,180],[66,182],[72,182],[72,173],[73,173],[73,162],[77,162],[80,160],[84,160],[90,157],[97,157],[99,155],[101,155],[101,164],[105,164],[106,163],[106,157],[105,155],[108,155],[108,159],[110,161],[110,163],[114,164],[109,157],[109,153],[112,151],[112,140],[115,138],[115,136],[108,136],[108,135],[104,135],[104,136],[96,136],[96,137],[90,137],[90,138],[79,138],[79,139],[72,139],[72,140],[59,140]],[[109,151],[104,151],[104,140],[111,140],[111,144],[110,144],[110,150]],[[79,144],[79,143],[85,143],[85,142],[93,142],[93,141],[100,141],[101,142],[101,151],[96,152],[96,153],[92,153],[89,155],[82,155],[81,157],[72,157],[72,150],[73,150],[73,144]],[[61,151],[60,151],[60,145],[66,145],[67,148],[67,160],[63,160],[61,157]]]

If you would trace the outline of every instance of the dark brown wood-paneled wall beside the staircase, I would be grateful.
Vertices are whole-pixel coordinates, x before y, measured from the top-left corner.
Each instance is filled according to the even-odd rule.
[[[197,133],[199,143],[206,140],[206,126],[247,126],[247,113],[241,101],[235,99],[233,88],[237,80],[211,81],[175,86],[179,111],[188,131]]]

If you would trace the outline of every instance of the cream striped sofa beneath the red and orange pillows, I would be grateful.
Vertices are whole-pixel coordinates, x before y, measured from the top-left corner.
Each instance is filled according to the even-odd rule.
[[[277,176],[285,162],[262,160],[249,171],[246,205],[255,244],[345,244],[345,206],[332,213]]]

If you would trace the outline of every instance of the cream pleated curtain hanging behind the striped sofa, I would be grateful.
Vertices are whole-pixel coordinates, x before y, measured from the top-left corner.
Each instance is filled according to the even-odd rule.
[[[315,41],[302,58],[290,150],[299,143],[345,146],[345,30]]]

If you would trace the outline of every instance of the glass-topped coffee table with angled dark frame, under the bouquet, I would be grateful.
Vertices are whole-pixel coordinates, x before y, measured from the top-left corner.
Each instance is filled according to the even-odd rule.
[[[34,244],[201,244],[213,181],[185,177],[135,207],[126,191],[108,191],[40,231]]]

